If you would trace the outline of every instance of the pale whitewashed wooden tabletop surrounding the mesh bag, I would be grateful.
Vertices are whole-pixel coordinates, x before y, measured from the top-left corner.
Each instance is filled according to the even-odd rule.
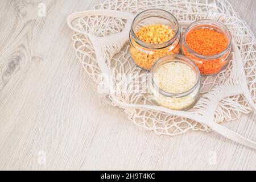
[[[46,3],[46,17],[38,4]],[[0,169],[256,169],[256,152],[211,132],[158,136],[96,92],[66,18],[99,1],[0,1]],[[231,1],[256,33],[256,1]],[[256,113],[225,123],[256,140]]]

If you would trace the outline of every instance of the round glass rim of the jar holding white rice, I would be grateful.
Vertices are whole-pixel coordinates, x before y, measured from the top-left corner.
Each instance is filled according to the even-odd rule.
[[[177,58],[177,59],[175,59]],[[197,77],[197,81],[196,81],[196,84],[194,86],[192,86],[191,89],[183,92],[183,93],[170,93],[170,92],[166,92],[164,90],[162,90],[161,88],[159,88],[158,85],[155,84],[155,81],[154,81],[154,68],[161,62],[161,61],[165,61],[166,59],[170,60],[170,61],[166,61],[166,63],[169,63],[171,61],[176,61],[176,62],[179,62],[179,63],[183,63],[183,64],[187,64],[190,68],[192,68],[192,66],[195,67],[195,73],[196,73],[196,77]],[[182,61],[181,61],[182,60]],[[164,63],[165,64],[165,63]],[[193,69],[193,68],[192,68]],[[194,69],[193,69],[194,70]],[[155,89],[158,89],[159,90],[159,93],[160,94],[163,94],[164,96],[167,96],[167,97],[184,97],[184,96],[187,96],[188,94],[192,93],[193,90],[195,90],[197,88],[197,86],[200,84],[200,81],[201,81],[201,75],[200,75],[200,71],[199,71],[199,68],[197,67],[196,63],[194,61],[192,61],[191,59],[189,59],[188,57],[185,57],[183,55],[166,55],[166,56],[163,56],[161,57],[160,59],[158,59],[154,65],[152,66],[151,68],[151,71],[150,71],[150,80],[152,82],[152,85],[154,86]]]

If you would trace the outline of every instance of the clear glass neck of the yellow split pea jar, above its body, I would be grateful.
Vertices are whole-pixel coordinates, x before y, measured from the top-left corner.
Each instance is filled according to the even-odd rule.
[[[142,20],[147,19],[147,18],[162,18],[168,20],[168,22],[172,23],[174,25],[174,37],[167,42],[161,43],[161,44],[150,44],[143,42],[138,38],[136,35],[135,29],[138,26],[139,23],[142,22]],[[130,39],[133,38],[134,41],[139,44],[139,46],[149,48],[149,49],[162,49],[170,46],[171,44],[174,44],[177,40],[179,41],[180,38],[180,27],[179,23],[177,22],[177,19],[175,18],[174,15],[169,13],[166,10],[162,9],[150,9],[150,10],[145,10],[139,13],[137,16],[135,16],[133,23],[131,24],[131,30],[130,30]]]

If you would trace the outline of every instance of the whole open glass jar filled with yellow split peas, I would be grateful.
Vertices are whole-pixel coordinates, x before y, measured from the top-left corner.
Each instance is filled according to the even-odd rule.
[[[174,15],[162,9],[139,13],[130,30],[130,55],[142,69],[150,70],[160,57],[179,53],[180,26]]]

